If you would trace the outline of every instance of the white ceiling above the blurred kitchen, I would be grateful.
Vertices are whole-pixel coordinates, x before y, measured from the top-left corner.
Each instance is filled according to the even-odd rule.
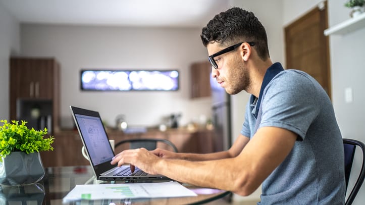
[[[230,0],[0,0],[21,23],[202,27]]]

